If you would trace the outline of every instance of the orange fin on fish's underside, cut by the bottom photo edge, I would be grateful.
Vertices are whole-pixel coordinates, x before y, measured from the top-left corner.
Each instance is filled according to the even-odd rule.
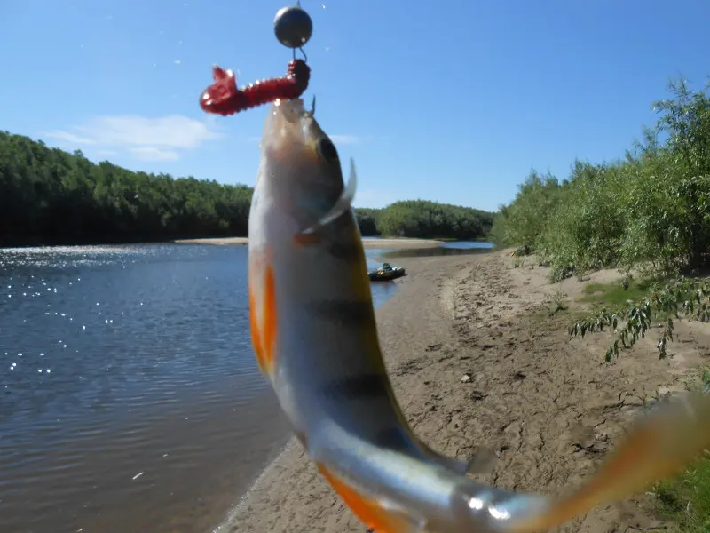
[[[394,505],[378,501],[375,497],[365,496],[350,483],[343,481],[327,466],[317,463],[320,473],[325,476],[330,486],[343,498],[345,505],[351,508],[367,528],[376,533],[422,533],[426,522],[417,519]]]

